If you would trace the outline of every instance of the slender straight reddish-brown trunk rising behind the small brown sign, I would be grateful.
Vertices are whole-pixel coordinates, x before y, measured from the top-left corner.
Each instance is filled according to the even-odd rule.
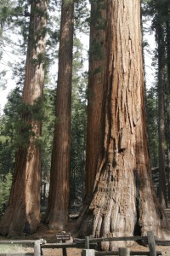
[[[71,78],[74,1],[63,0],[59,41],[56,124],[46,222],[63,230],[68,220],[71,148]]]

